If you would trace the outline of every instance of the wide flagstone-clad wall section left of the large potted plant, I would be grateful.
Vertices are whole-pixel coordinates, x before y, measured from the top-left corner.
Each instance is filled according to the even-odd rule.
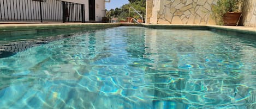
[[[147,1],[147,8],[151,8]],[[212,5],[217,0],[154,0],[152,16],[147,23],[152,24],[216,24],[211,18]],[[150,10],[150,9],[147,9]],[[150,15],[150,12],[147,12]]]

